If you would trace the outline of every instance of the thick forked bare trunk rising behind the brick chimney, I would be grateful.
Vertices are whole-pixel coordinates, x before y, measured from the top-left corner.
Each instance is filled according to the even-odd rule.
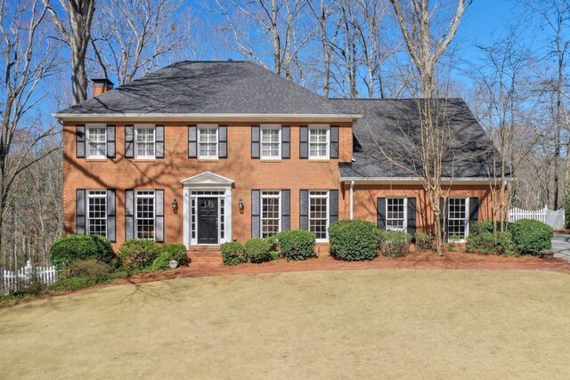
[[[50,0],[43,0],[52,14],[53,22],[61,32],[63,40],[71,49],[71,85],[73,100],[80,103],[87,99],[87,74],[85,56],[91,40],[91,22],[95,12],[95,0],[60,0],[61,7],[69,18],[66,27],[61,16],[53,9]]]

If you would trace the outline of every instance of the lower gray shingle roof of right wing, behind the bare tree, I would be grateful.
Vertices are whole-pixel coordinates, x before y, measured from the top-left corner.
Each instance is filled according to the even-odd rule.
[[[410,141],[419,140],[419,101],[403,100],[332,100],[339,107],[363,115],[354,123],[354,162],[340,164],[343,178],[411,178],[420,167],[419,155]],[[493,157],[500,156],[481,125],[461,99],[439,100],[445,105],[452,131],[449,154],[444,159],[444,177],[488,178]],[[405,168],[391,162],[379,149]],[[410,170],[411,169],[411,170]]]

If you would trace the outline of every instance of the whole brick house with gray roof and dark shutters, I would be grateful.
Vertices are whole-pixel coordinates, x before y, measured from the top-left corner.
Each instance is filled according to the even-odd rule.
[[[304,229],[325,250],[338,219],[433,225],[418,178],[371,138],[394,134],[394,117],[414,125],[415,101],[328,100],[244,61],[178,62],[116,89],[94,82],[93,98],[55,114],[65,233],[191,247]],[[463,101],[447,107],[458,139],[493,150]],[[454,167],[445,229],[465,239],[490,217],[493,187],[477,155]]]

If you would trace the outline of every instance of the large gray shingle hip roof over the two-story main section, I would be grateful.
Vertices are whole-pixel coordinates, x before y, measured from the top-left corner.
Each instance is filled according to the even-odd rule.
[[[63,114],[338,114],[335,103],[247,61],[181,61]]]

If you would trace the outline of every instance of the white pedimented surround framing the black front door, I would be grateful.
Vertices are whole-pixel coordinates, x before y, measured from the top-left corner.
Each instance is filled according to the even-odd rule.
[[[232,185],[222,175],[204,172],[181,181],[183,185],[183,243],[198,245],[199,198],[218,198],[218,243],[232,241]]]

